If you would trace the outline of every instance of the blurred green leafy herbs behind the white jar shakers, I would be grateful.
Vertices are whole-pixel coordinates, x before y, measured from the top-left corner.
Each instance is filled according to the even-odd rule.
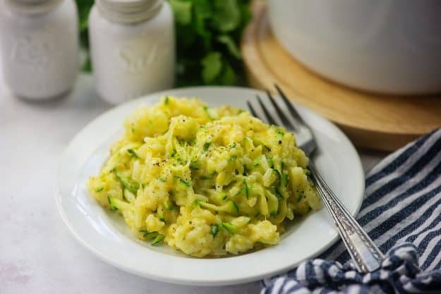
[[[94,0],[75,1],[80,41],[87,53],[88,15]],[[169,0],[176,32],[176,86],[245,84],[238,44],[251,18],[249,3],[250,0]],[[83,70],[91,70],[88,58]]]

